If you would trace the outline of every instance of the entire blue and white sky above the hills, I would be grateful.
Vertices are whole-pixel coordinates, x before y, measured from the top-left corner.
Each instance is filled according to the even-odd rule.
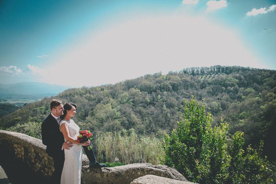
[[[187,67],[276,69],[276,1],[0,1],[0,83],[114,84]]]

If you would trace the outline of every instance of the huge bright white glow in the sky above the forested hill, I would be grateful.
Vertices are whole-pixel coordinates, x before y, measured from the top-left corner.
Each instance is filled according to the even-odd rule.
[[[193,66],[265,68],[234,31],[201,16],[131,19],[88,33],[72,45],[68,50],[57,50],[59,56],[47,68],[49,71],[60,68],[66,73],[66,80],[60,80],[62,85],[117,83]],[[55,76],[49,75],[45,82],[54,80]]]

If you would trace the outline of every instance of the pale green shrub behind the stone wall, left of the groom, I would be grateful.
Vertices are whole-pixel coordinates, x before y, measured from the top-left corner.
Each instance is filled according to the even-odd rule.
[[[7,131],[13,131],[18,133],[24,133],[37,139],[41,139],[41,124],[42,122],[28,121],[24,124],[17,124],[13,127],[9,127]]]

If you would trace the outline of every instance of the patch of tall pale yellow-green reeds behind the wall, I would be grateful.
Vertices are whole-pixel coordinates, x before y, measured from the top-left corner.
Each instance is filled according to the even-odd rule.
[[[95,140],[99,162],[121,162],[126,164],[164,162],[162,142],[156,138],[137,135],[134,131],[106,132]]]

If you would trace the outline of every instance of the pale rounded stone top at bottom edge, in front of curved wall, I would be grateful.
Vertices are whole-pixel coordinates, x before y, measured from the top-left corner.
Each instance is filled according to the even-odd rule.
[[[133,180],[130,184],[194,184],[189,181],[178,181],[175,179],[164,178],[155,175],[145,175]]]

